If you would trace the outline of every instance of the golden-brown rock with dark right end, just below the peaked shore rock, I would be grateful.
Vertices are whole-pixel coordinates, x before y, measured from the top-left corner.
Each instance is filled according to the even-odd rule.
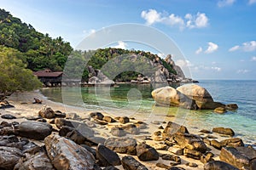
[[[207,151],[207,145],[200,137],[188,133],[175,133],[174,140],[181,148],[188,148],[189,150],[197,150],[201,153]]]

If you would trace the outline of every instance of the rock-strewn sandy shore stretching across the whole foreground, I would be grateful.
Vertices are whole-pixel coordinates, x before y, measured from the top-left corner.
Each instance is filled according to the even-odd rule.
[[[14,106],[0,110],[0,169],[255,169],[256,151],[228,127],[189,133],[172,119]]]

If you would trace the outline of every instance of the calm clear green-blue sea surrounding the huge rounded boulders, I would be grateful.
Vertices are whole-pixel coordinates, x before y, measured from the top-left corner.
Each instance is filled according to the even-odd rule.
[[[82,108],[84,111],[102,111],[113,116],[140,116],[144,122],[173,122],[194,130],[212,127],[230,127],[246,144],[256,145],[256,81],[254,80],[200,80],[196,83],[212,95],[214,101],[237,104],[236,111],[217,114],[210,110],[189,111],[177,107],[156,106],[151,84],[120,83],[100,87],[44,88],[41,93],[50,100]],[[182,84],[173,84],[177,88]]]

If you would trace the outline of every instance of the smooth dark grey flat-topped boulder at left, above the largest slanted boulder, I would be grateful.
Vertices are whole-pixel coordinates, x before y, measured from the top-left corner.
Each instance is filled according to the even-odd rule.
[[[44,140],[52,132],[52,127],[46,122],[25,121],[20,122],[17,131],[22,137]]]

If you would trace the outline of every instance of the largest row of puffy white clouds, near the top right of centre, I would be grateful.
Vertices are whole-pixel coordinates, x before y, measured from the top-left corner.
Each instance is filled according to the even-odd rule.
[[[204,13],[197,13],[195,15],[186,14],[185,17],[177,14],[167,14],[157,12],[155,9],[143,10],[141,17],[146,20],[146,24],[153,25],[154,23],[161,23],[167,26],[177,26],[180,30],[185,27],[188,28],[203,28],[208,26],[208,18]],[[185,25],[186,23],[186,25]]]

